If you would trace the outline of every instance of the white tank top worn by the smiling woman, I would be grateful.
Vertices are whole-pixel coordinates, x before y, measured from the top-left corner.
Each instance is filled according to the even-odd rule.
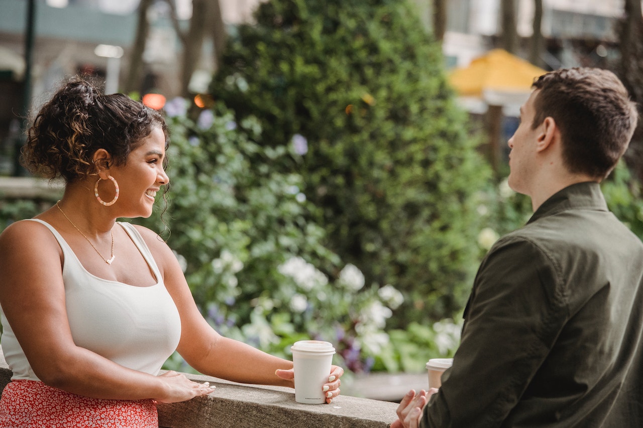
[[[118,222],[156,276],[157,283],[150,287],[136,287],[94,276],[80,264],[56,229],[42,220],[30,220],[48,227],[62,248],[62,279],[74,343],[121,366],[158,375],[179,344],[181,319],[140,233],[131,224]],[[5,313],[0,312],[3,325],[0,346],[14,373],[11,379],[39,380]]]

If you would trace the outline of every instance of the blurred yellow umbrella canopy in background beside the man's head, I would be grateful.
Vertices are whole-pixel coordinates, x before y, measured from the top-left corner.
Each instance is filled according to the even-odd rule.
[[[504,49],[492,49],[467,67],[454,69],[449,82],[462,96],[484,96],[485,91],[529,93],[534,78],[547,73]]]

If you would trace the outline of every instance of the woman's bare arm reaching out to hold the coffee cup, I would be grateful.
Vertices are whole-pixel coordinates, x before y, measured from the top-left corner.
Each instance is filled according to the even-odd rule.
[[[195,370],[221,379],[248,384],[293,387],[293,362],[269,355],[248,344],[222,337],[199,312],[181,267],[170,248],[156,234],[138,228],[161,269],[163,281],[181,316],[177,351]],[[328,401],[340,394],[343,369],[332,367]]]

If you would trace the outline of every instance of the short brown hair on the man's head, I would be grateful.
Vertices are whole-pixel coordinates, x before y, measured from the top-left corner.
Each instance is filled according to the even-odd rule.
[[[536,128],[547,117],[556,121],[563,140],[563,161],[572,173],[603,179],[628,148],[637,126],[636,104],[611,71],[557,69],[533,84]]]

